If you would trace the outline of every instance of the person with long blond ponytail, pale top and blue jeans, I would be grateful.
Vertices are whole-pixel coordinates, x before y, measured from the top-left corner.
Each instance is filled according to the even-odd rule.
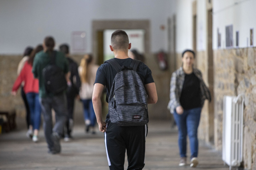
[[[81,79],[79,96],[83,103],[85,130],[86,132],[89,132],[89,129],[91,128],[93,134],[95,133],[94,126],[96,116],[92,106],[92,92],[98,67],[98,65],[93,63],[92,55],[86,54],[84,58],[81,59],[78,68]]]

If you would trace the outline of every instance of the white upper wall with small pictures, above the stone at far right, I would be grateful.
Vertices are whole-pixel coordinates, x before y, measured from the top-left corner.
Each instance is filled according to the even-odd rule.
[[[217,48],[217,28],[221,33],[221,49],[226,48],[226,26],[233,24],[233,48],[236,48],[236,31],[239,31],[239,48],[249,47],[250,28],[254,28],[253,46],[256,46],[256,1],[214,0],[213,49]],[[247,45],[248,39],[248,45]]]

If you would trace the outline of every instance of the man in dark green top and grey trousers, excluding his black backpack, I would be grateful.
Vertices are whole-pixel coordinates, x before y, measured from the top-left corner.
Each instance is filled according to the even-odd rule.
[[[61,85],[66,86],[67,83],[71,82],[69,80],[69,65],[67,58],[62,52],[54,51],[54,46],[55,41],[53,37],[45,37],[43,42],[44,50],[36,54],[32,72],[34,73],[34,77],[39,80],[39,101],[44,116],[44,135],[48,144],[48,153],[58,154],[61,152],[60,139],[63,134],[64,124],[68,114],[67,96],[65,90],[58,94],[48,91],[52,89],[46,90],[45,78],[42,71],[54,58],[55,65],[57,65],[65,75],[66,82]],[[54,126],[51,109],[55,111],[56,121]]]

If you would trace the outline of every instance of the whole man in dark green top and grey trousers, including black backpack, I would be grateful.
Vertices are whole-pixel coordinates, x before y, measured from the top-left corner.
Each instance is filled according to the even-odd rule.
[[[44,134],[48,152],[51,154],[61,152],[60,139],[68,114],[65,90],[67,84],[71,84],[67,58],[62,52],[54,51],[54,46],[53,37],[44,39],[44,50],[36,54],[32,69],[34,77],[39,79],[39,101],[44,116]],[[54,127],[51,109],[55,111]]]

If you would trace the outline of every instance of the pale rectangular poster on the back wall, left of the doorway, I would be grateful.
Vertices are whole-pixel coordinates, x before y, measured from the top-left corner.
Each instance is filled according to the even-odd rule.
[[[85,31],[73,31],[71,34],[71,49],[73,53],[84,53],[86,51]]]

